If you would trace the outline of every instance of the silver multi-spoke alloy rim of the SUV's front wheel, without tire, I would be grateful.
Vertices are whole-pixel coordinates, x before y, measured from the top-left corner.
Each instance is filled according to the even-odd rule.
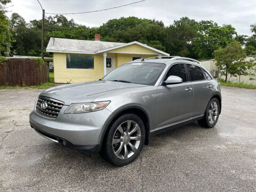
[[[139,148],[141,130],[138,123],[125,121],[121,123],[113,136],[112,146],[114,154],[121,159],[131,157]]]

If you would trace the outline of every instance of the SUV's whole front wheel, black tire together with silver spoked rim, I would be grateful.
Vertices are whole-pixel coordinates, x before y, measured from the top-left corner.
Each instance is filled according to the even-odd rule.
[[[116,166],[124,166],[140,154],[145,142],[145,126],[137,115],[125,114],[114,122],[105,137],[101,157]]]

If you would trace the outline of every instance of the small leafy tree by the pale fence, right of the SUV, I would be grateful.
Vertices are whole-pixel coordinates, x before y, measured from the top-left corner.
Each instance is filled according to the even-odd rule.
[[[225,82],[228,75],[249,75],[248,70],[253,67],[251,62],[245,61],[246,52],[239,42],[231,42],[225,48],[215,50],[213,55],[217,61],[216,66],[225,73]]]

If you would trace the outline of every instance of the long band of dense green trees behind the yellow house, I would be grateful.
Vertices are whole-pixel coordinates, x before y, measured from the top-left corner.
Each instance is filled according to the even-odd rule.
[[[5,0],[0,0],[0,2],[3,1]],[[11,44],[12,54],[33,56],[41,54],[42,20],[26,23],[18,13],[13,13],[10,23],[5,15],[1,18],[1,14],[0,21],[2,53],[8,51]],[[99,33],[101,41],[123,43],[138,41],[170,55],[202,60],[212,59],[214,50],[226,47],[234,41],[246,45],[247,55],[255,54],[255,25],[251,26],[251,30],[254,33],[251,37],[237,35],[235,28],[231,25],[218,26],[214,21],[195,21],[188,17],[174,20],[168,27],[164,26],[162,21],[122,17],[111,19],[100,27],[90,28],[78,25],[73,19],[68,20],[63,15],[55,15],[45,18],[44,42],[46,47],[50,37],[93,41],[94,34]],[[46,54],[50,55],[50,53]]]

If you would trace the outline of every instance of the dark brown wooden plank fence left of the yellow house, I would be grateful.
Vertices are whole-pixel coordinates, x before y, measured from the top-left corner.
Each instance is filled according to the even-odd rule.
[[[49,81],[49,67],[39,68],[38,61],[13,59],[0,65],[0,86],[31,86]]]

